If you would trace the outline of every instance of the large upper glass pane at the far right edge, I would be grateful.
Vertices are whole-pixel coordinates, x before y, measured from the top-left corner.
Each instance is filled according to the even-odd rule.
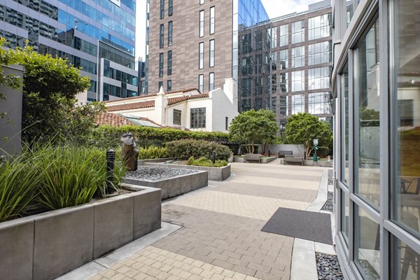
[[[395,180],[393,218],[419,235],[420,217],[420,26],[414,24],[420,2],[400,0],[394,18],[395,69],[391,94],[395,104]],[[419,272],[420,273],[420,272]]]

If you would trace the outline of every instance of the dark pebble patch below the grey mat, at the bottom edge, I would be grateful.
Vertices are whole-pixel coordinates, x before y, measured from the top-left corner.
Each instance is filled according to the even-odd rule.
[[[318,279],[344,279],[337,255],[315,252]]]

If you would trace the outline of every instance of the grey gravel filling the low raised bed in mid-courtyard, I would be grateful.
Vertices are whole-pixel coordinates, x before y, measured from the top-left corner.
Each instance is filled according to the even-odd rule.
[[[136,171],[129,171],[125,174],[126,177],[145,180],[162,180],[169,179],[175,176],[196,173],[197,170],[190,169],[176,169],[176,168],[162,168],[162,167],[138,167]]]

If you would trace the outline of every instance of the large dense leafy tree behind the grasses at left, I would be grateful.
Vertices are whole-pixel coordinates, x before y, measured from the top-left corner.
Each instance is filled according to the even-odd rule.
[[[25,66],[23,82],[22,139],[79,141],[87,137],[99,104],[76,106],[76,94],[90,87],[90,78],[61,58],[40,55],[30,47],[17,48]]]

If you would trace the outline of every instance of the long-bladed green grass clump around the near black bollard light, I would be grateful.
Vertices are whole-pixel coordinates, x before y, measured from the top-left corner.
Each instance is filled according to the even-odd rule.
[[[106,151],[99,148],[44,146],[33,153],[41,176],[36,200],[45,209],[60,209],[90,202],[97,193],[104,193]],[[118,153],[116,155],[118,157]],[[122,181],[125,168],[116,158],[113,188]]]

